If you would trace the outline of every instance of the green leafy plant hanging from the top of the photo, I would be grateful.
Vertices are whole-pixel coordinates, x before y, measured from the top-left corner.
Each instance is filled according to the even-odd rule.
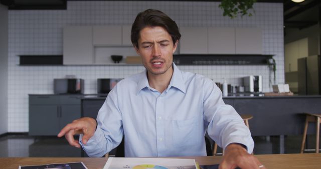
[[[249,10],[251,9],[253,13],[255,12],[253,9],[254,2],[256,2],[256,0],[222,0],[219,7],[224,10],[223,16],[227,15],[234,18],[238,13],[240,13],[241,16],[252,16],[252,12]]]

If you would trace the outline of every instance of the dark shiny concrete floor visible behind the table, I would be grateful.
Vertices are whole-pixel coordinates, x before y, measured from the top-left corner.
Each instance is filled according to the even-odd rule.
[[[254,154],[299,153],[301,135],[253,136]],[[283,141],[282,141],[283,140]],[[315,135],[308,135],[307,148],[315,147]],[[221,149],[218,150],[220,152]],[[81,157],[81,149],[72,147],[65,138],[29,136],[27,134],[0,137],[0,157]]]

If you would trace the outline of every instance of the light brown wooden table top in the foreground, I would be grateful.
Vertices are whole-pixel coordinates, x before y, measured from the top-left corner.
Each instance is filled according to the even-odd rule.
[[[303,154],[264,154],[255,155],[267,168],[321,168],[321,153]],[[200,165],[216,164],[222,156],[189,156],[177,158],[195,158]],[[107,158],[36,158],[17,157],[0,158],[1,169],[17,169],[19,165],[40,165],[47,163],[68,163],[83,161],[88,169],[103,168]]]

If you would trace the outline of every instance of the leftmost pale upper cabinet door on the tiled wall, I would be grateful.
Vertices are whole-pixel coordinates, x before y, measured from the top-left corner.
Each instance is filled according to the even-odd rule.
[[[93,62],[92,26],[65,27],[63,36],[63,64]]]

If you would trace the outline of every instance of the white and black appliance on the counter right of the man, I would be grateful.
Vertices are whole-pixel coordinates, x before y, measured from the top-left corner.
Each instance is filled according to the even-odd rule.
[[[243,77],[245,91],[261,92],[262,91],[262,75],[249,75]]]

